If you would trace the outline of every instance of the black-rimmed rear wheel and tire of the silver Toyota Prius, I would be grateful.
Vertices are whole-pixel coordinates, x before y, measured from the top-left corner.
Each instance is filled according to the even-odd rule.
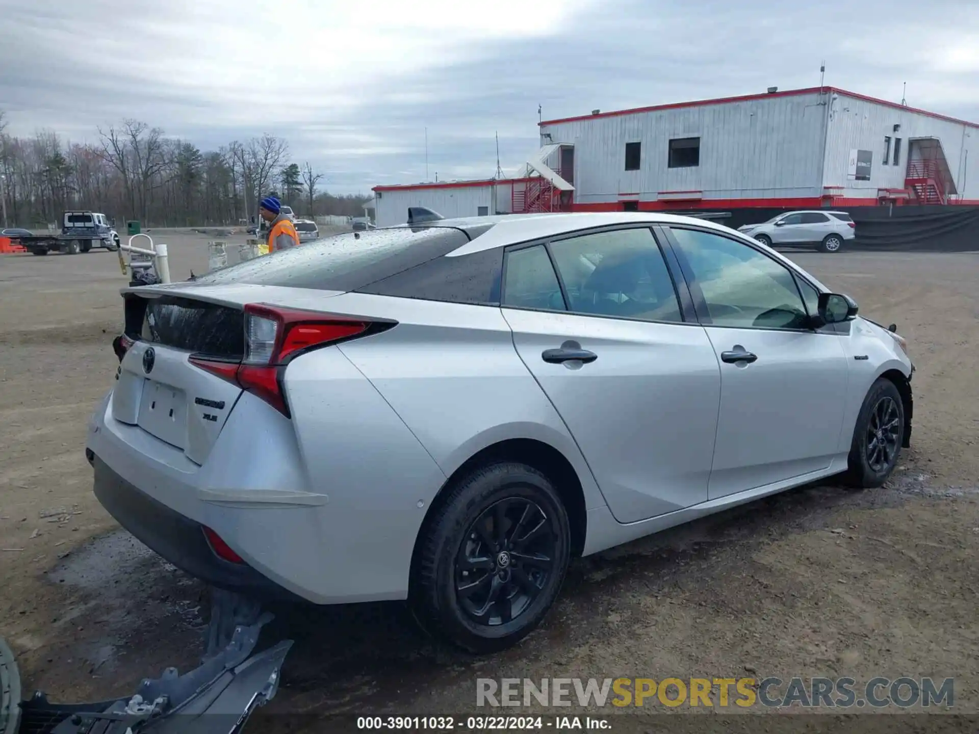
[[[557,598],[571,557],[554,485],[526,464],[475,469],[422,529],[409,603],[427,631],[473,653],[526,637]]]

